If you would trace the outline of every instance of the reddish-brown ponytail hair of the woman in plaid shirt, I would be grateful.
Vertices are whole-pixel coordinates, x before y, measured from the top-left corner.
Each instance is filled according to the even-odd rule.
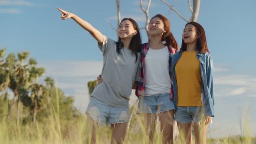
[[[174,49],[178,50],[179,49],[178,43],[175,40],[173,34],[171,33],[170,21],[165,16],[163,16],[161,14],[157,14],[157,15],[153,16],[151,18],[151,20],[154,19],[155,17],[158,17],[163,21],[164,29],[166,30],[166,32],[161,37],[161,41],[162,42],[165,41],[165,44],[164,44],[165,46],[172,46]]]

